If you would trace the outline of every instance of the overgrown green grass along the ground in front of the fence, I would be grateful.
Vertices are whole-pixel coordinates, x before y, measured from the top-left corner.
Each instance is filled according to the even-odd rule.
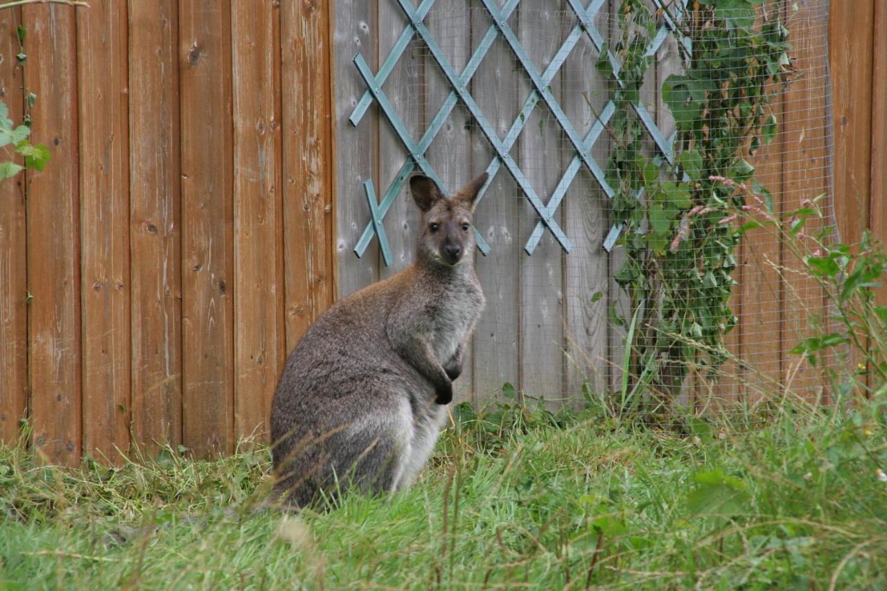
[[[493,410],[459,407],[408,493],[300,516],[256,509],[265,449],[66,471],[0,448],[0,587],[887,587],[874,405],[724,431]]]

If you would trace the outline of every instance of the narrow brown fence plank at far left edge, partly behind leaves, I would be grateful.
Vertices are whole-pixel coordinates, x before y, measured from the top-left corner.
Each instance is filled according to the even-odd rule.
[[[24,114],[16,27],[21,9],[0,12],[0,98],[13,124]],[[27,410],[27,234],[25,175],[0,183],[0,442],[12,444]]]

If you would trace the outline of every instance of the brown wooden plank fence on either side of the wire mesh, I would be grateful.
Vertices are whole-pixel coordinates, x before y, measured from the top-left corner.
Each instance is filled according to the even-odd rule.
[[[0,91],[53,154],[0,184],[0,437],[231,452],[334,299],[334,3],[90,4],[0,12]],[[832,4],[838,219],[885,236],[887,6]]]

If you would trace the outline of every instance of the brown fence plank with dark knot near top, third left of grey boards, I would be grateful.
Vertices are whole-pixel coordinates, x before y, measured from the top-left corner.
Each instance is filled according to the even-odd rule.
[[[179,4],[184,445],[233,449],[231,11]]]

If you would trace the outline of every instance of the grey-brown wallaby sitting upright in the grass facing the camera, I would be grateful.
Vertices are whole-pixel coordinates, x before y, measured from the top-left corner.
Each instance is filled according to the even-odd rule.
[[[428,461],[483,311],[472,216],[488,175],[447,199],[416,176],[416,260],[341,299],[287,359],[271,407],[279,499],[394,492]]]

